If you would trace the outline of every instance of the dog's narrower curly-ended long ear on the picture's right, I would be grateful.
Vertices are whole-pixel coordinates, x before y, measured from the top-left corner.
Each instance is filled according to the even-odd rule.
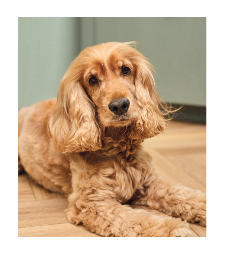
[[[132,136],[151,138],[165,129],[163,104],[157,94],[153,67],[139,52],[134,60],[136,66],[135,96],[141,114],[132,126]],[[164,108],[164,107],[163,107]]]

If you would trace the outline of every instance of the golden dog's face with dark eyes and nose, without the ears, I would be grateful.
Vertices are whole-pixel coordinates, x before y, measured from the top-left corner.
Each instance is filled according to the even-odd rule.
[[[104,127],[127,126],[139,115],[134,65],[115,51],[98,56],[98,60],[90,58],[81,83],[96,106],[99,123]]]

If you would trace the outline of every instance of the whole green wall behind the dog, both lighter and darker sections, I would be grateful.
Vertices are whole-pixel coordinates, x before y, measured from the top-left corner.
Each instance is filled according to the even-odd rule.
[[[80,50],[139,41],[166,101],[206,106],[206,17],[19,17],[19,108],[57,96]]]

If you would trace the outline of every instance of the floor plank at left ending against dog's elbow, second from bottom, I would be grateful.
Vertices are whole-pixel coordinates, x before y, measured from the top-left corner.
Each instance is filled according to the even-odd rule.
[[[18,227],[67,223],[67,199],[48,199],[18,203]]]

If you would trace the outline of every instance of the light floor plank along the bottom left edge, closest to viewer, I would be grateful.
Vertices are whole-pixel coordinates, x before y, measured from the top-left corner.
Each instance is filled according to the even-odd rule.
[[[19,237],[101,237],[83,225],[71,223],[18,228]]]

